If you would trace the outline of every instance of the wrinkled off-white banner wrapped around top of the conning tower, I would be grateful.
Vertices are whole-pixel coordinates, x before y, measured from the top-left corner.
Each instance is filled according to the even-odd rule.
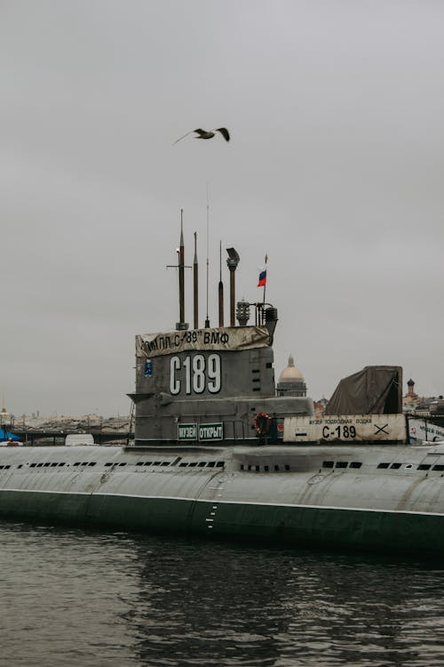
[[[144,333],[136,336],[138,357],[159,357],[186,350],[251,350],[266,348],[270,336],[265,326],[220,326],[169,333]]]

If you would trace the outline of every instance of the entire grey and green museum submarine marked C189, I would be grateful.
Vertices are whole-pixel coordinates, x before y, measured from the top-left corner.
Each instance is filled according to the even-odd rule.
[[[195,239],[195,237],[194,237]],[[230,323],[179,321],[136,336],[134,441],[0,448],[0,516],[294,548],[444,552],[444,443],[409,444],[400,366],[339,382],[327,414],[279,396],[272,304],[235,301]],[[222,287],[222,289],[221,289]],[[250,324],[250,319],[253,321]],[[237,323],[236,323],[237,320]]]

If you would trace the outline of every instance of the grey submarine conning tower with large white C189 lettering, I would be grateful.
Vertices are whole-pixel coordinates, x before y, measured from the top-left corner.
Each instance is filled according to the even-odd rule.
[[[258,414],[273,419],[267,440],[277,442],[284,417],[313,414],[310,398],[276,396],[271,304],[239,301],[238,326],[190,330],[183,313],[181,301],[175,331],[136,336],[135,446],[259,444]]]

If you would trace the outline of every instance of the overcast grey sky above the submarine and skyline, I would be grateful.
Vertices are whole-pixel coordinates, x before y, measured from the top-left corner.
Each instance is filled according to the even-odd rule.
[[[0,0],[7,409],[128,412],[134,335],[178,320],[180,208],[203,325],[207,183],[211,325],[221,239],[249,301],[268,253],[276,376],[444,392],[443,35],[439,0]]]

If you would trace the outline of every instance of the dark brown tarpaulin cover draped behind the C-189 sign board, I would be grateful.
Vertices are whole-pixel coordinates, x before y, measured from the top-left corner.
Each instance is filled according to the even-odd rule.
[[[366,366],[337,385],[325,414],[402,412],[402,368]]]

